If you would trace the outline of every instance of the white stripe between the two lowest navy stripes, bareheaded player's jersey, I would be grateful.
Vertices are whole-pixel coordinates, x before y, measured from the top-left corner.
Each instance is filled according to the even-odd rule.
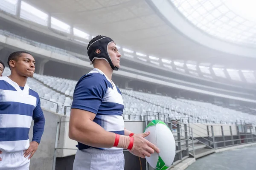
[[[32,116],[19,114],[0,114],[0,127],[30,128]]]

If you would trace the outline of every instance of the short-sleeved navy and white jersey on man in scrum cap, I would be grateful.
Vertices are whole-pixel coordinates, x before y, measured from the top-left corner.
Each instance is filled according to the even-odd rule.
[[[124,104],[122,94],[116,85],[97,68],[81,77],[76,84],[71,108],[90,111],[96,114],[93,122],[105,130],[124,135],[122,117]],[[104,139],[102,139],[104,140]],[[78,142],[79,150],[90,146]],[[122,150],[122,148],[98,148],[102,150]]]

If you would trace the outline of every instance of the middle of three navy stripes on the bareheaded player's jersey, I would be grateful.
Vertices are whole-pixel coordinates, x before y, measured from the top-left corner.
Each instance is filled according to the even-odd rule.
[[[20,114],[32,116],[35,107],[19,102],[0,102],[0,114]]]

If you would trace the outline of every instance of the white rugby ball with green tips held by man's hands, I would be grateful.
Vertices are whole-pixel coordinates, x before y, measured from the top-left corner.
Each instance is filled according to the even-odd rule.
[[[152,120],[145,128],[150,134],[145,137],[149,142],[155,144],[160,153],[154,152],[150,157],[145,157],[151,167],[157,170],[166,170],[174,161],[176,145],[172,131],[160,120]]]

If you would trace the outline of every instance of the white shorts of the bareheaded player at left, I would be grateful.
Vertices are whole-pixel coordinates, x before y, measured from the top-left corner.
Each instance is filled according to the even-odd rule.
[[[0,170],[29,170],[30,159],[28,158],[30,155],[25,158],[23,150],[17,152],[1,151]]]

